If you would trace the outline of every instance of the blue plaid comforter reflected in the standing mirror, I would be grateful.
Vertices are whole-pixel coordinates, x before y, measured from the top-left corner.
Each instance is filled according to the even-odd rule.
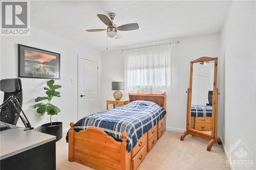
[[[212,106],[192,105],[191,116],[193,117],[211,117]]]

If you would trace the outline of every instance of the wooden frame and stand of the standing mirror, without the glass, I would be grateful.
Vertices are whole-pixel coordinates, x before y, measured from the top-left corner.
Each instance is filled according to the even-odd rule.
[[[204,62],[204,61],[214,61],[214,88],[212,96],[212,125],[211,125],[211,135],[200,132],[195,129],[190,128],[191,120],[191,100],[192,100],[192,84],[193,84],[193,64]],[[205,140],[209,140],[207,145],[207,151],[211,151],[212,145],[218,142],[221,144],[221,140],[217,137],[217,126],[218,126],[218,88],[217,88],[217,72],[218,72],[218,58],[211,57],[200,57],[196,60],[190,61],[190,76],[189,76],[189,88],[187,89],[187,118],[186,118],[186,131],[181,135],[180,140],[184,140],[185,136],[190,134],[193,136],[200,137]]]

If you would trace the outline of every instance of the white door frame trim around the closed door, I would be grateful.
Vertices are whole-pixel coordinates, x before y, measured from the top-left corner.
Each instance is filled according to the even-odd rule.
[[[80,66],[79,66],[79,59],[83,59],[83,60],[88,60],[88,61],[93,61],[97,63],[98,69],[97,69],[97,108],[99,107],[99,60],[95,59],[95,58],[91,58],[91,57],[87,57],[87,56],[83,56],[83,55],[77,55],[77,115],[76,115],[76,119],[77,121],[79,120],[79,84],[80,84],[80,80],[79,80],[79,76],[80,76]]]

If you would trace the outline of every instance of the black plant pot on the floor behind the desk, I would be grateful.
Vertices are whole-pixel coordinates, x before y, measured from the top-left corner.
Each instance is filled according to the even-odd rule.
[[[52,122],[41,126],[41,132],[56,136],[56,141],[62,138],[62,122]]]

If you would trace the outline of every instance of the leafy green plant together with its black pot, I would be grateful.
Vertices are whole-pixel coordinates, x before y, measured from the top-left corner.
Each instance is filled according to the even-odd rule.
[[[46,90],[47,96],[39,96],[35,99],[35,102],[40,102],[46,100],[47,103],[37,103],[34,105],[36,112],[44,115],[45,113],[49,114],[50,123],[44,124],[41,126],[41,132],[47,133],[50,135],[56,136],[56,140],[62,138],[62,122],[52,122],[52,115],[58,114],[60,109],[51,103],[53,97],[60,97],[60,92],[56,91],[56,89],[61,88],[61,85],[54,84],[54,80],[49,80],[47,83],[48,87],[44,87]]]

